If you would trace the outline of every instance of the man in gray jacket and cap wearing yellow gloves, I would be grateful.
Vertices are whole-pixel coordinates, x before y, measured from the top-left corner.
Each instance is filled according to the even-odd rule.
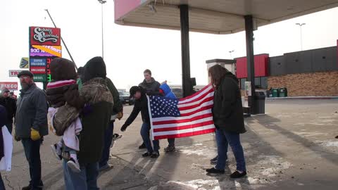
[[[30,184],[23,190],[42,189],[40,146],[48,134],[46,94],[33,81],[27,70],[19,73],[22,89],[15,114],[15,140],[21,140],[30,165]]]

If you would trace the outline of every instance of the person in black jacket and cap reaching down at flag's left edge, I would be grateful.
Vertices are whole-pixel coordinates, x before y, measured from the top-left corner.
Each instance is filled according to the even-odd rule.
[[[149,118],[149,110],[148,110],[148,99],[146,98],[146,91],[142,87],[132,87],[130,88],[130,97],[134,96],[135,103],[134,108],[132,109],[132,113],[130,114],[129,118],[125,121],[125,124],[121,127],[121,131],[124,132],[125,129],[132,122],[135,120],[139,112],[142,115],[142,127],[141,127],[141,136],[146,145],[147,152],[144,153],[142,156],[147,157],[151,156],[151,158],[158,158],[160,153],[158,152],[159,149],[159,142],[158,140],[154,140],[154,148],[151,146],[151,141],[149,137],[149,131],[151,129],[150,125],[150,118]]]

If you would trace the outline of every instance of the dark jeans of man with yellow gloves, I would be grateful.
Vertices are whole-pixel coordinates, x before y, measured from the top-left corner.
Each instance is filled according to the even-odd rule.
[[[41,180],[40,160],[41,139],[37,141],[22,139],[21,142],[23,143],[27,162],[30,165],[30,186],[32,186],[32,189],[42,189],[43,183]]]

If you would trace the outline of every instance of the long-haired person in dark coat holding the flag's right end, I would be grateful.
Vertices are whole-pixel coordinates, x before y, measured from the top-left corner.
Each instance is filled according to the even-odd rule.
[[[246,130],[238,79],[220,65],[209,68],[208,73],[211,77],[213,89],[215,89],[213,122],[216,127],[218,159],[215,167],[207,169],[206,172],[209,174],[224,174],[227,146],[230,145],[237,163],[237,170],[230,177],[244,177],[246,166],[239,134],[246,132]]]

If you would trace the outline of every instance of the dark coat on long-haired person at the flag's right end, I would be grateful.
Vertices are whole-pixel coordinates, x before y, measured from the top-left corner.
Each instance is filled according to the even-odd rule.
[[[238,79],[227,72],[215,90],[213,100],[213,122],[215,127],[226,132],[241,134],[246,132]]]

